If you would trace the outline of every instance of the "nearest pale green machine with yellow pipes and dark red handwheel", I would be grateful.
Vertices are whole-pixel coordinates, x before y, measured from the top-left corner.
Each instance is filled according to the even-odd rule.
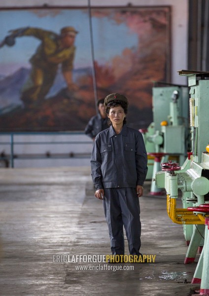
[[[193,255],[188,252],[185,263],[194,260],[194,250],[200,246],[201,236],[197,239],[197,232],[203,235],[204,215],[198,215],[188,210],[192,206],[209,203],[209,72],[179,71],[180,75],[188,76],[190,132],[192,152],[180,167],[169,161],[162,163],[162,171],[156,173],[155,181],[158,188],[167,191],[167,211],[173,222],[183,224],[184,236],[187,244],[193,248]],[[183,139],[177,138],[176,141]],[[184,140],[183,140],[184,141]],[[178,189],[182,192],[183,208],[176,208]],[[194,227],[193,225],[196,225]],[[191,248],[190,248],[191,249]]]

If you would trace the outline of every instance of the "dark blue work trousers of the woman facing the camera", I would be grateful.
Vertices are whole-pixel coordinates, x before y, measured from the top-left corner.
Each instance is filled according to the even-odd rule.
[[[136,188],[104,188],[104,214],[113,255],[124,255],[124,234],[131,255],[139,256],[141,222]]]

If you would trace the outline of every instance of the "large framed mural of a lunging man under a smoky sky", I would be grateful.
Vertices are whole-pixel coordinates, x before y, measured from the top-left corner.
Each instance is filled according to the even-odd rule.
[[[147,127],[153,81],[170,81],[170,22],[169,6],[1,9],[0,131],[82,131],[113,92]]]

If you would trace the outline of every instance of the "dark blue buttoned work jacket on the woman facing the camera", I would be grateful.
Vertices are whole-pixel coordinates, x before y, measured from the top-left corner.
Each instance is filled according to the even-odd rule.
[[[100,132],[91,155],[92,178],[96,190],[143,185],[147,173],[147,153],[141,133],[123,126]]]

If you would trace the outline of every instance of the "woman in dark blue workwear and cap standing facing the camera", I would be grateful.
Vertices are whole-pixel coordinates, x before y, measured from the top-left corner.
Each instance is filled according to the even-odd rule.
[[[126,125],[127,98],[110,94],[104,106],[111,125],[96,136],[93,145],[95,197],[103,199],[112,255],[124,255],[124,226],[130,255],[139,257],[139,197],[147,173],[147,153],[142,134]]]

